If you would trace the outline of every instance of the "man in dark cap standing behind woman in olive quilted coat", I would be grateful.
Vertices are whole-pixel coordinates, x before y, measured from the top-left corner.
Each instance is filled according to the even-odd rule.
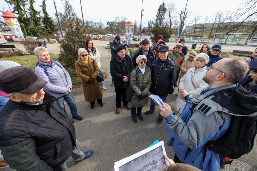
[[[151,69],[152,62],[156,59],[155,54],[151,51],[150,47],[150,42],[147,39],[144,39],[142,41],[142,48],[135,54],[134,58],[132,59],[134,68],[137,66],[136,59],[139,55],[143,54],[146,56],[147,63],[146,66]]]

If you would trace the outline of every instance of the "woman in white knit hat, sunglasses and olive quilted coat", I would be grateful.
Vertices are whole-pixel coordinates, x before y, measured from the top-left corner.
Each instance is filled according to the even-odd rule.
[[[135,91],[131,98],[131,115],[132,121],[137,123],[136,116],[140,120],[144,120],[142,117],[142,108],[148,102],[148,92],[151,87],[151,70],[146,66],[146,56],[139,55],[136,59],[138,64],[132,71],[130,76],[131,88]]]

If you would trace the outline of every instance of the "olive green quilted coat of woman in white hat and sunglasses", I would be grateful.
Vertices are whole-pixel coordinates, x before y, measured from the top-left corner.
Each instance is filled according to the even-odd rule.
[[[136,76],[136,70],[138,71],[138,82],[136,82],[137,76]],[[138,88],[139,83],[139,88]],[[134,95],[131,98],[130,105],[131,107],[141,107],[147,104],[148,102],[148,92],[151,87],[151,71],[148,67],[145,67],[144,75],[142,74],[141,70],[138,68],[138,65],[136,68],[132,71],[130,76],[130,85],[131,88],[135,91]],[[140,91],[144,90],[144,91]],[[139,96],[141,93],[144,93],[147,95],[144,98],[140,98]]]

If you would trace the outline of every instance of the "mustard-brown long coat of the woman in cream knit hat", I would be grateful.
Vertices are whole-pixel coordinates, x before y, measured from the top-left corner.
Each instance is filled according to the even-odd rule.
[[[75,67],[77,75],[81,78],[85,101],[93,102],[97,99],[101,99],[103,97],[102,89],[96,79],[99,73],[97,62],[88,56],[86,64],[81,58],[79,58],[75,63]],[[94,82],[88,82],[90,77],[95,79]]]

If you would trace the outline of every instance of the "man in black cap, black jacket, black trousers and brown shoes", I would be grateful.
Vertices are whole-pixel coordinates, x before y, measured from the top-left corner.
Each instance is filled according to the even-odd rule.
[[[123,45],[116,48],[116,58],[110,62],[110,72],[114,78],[114,87],[116,92],[116,113],[119,114],[121,110],[121,97],[123,96],[123,106],[128,110],[131,109],[126,101],[125,90],[128,86],[128,80],[134,67],[131,58],[128,57]]]

